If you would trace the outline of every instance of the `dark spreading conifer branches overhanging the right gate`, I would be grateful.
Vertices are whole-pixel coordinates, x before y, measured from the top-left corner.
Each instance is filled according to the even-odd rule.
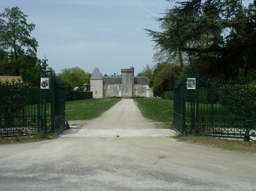
[[[186,54],[198,70],[225,79],[256,69],[256,1],[176,1],[156,19],[161,32],[145,29],[157,47],[169,55]]]

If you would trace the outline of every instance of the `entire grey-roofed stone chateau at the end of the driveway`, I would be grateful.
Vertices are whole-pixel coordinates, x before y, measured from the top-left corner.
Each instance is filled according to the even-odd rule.
[[[99,68],[94,68],[90,78],[93,97],[153,97],[153,89],[149,88],[149,79],[134,77],[134,67],[121,69],[122,76],[102,77]]]

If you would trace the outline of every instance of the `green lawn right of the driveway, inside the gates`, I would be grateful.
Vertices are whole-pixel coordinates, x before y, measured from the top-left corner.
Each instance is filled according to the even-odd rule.
[[[173,100],[152,97],[136,99],[134,102],[144,117],[164,123],[165,125],[161,128],[170,128],[173,121]]]

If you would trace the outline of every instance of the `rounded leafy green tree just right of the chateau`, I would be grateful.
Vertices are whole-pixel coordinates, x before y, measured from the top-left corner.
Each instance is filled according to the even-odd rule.
[[[174,75],[180,74],[179,66],[170,65],[167,63],[158,63],[154,73],[151,75],[149,87],[154,91],[171,91],[174,87]]]

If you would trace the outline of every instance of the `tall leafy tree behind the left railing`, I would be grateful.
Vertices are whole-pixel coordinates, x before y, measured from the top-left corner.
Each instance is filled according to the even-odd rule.
[[[36,77],[41,61],[36,57],[38,42],[30,37],[34,24],[28,24],[18,7],[0,14],[0,75]]]

